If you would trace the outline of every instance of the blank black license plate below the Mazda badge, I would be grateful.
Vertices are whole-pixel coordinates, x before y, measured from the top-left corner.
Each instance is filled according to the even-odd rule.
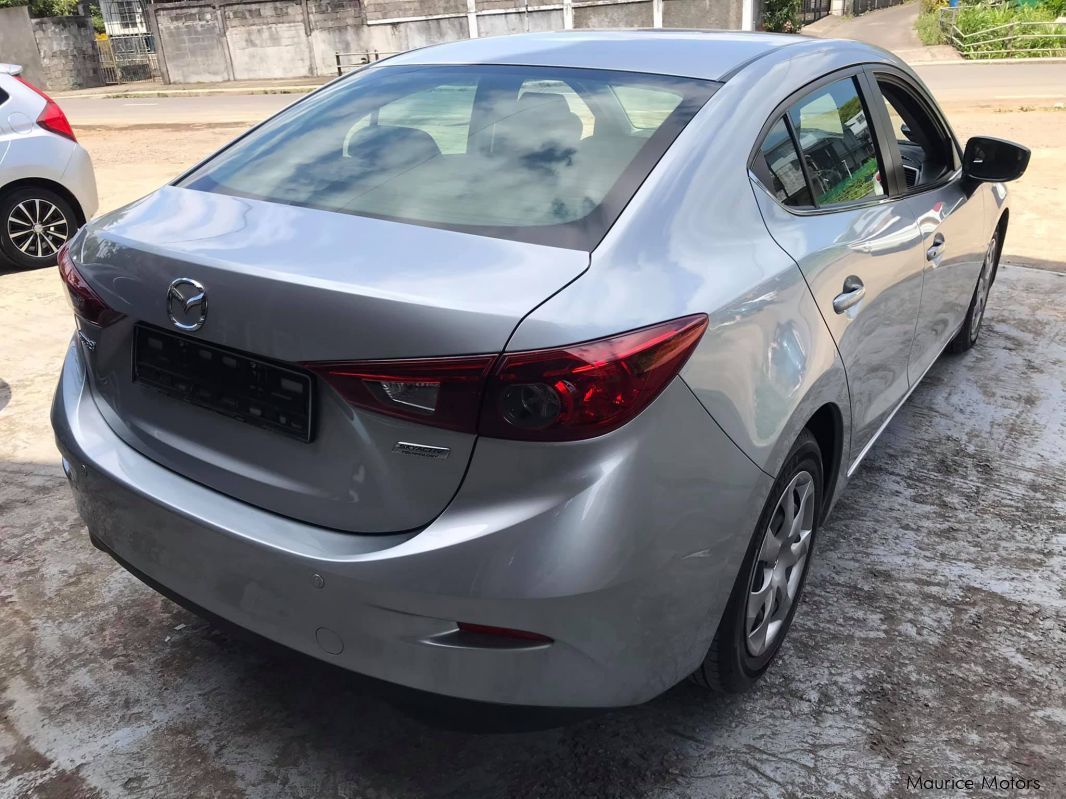
[[[133,379],[256,427],[311,440],[311,377],[298,370],[136,325]]]

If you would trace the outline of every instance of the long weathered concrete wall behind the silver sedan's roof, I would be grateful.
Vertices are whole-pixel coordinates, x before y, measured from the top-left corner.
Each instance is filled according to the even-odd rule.
[[[740,28],[743,0],[663,0],[663,25]],[[477,0],[479,36],[562,30],[560,0]],[[337,52],[388,55],[470,35],[467,0],[154,3],[172,83],[336,75]],[[575,28],[650,28],[651,0],[576,0]]]

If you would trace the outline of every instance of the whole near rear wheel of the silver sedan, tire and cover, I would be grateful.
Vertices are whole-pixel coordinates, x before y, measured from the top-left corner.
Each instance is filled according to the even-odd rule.
[[[803,593],[821,504],[822,454],[804,430],[774,482],[694,682],[739,694],[770,668]]]

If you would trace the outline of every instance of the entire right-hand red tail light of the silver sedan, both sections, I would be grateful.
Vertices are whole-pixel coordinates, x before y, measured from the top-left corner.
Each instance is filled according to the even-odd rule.
[[[644,410],[706,329],[697,314],[556,349],[304,366],[370,410],[494,438],[576,441]]]

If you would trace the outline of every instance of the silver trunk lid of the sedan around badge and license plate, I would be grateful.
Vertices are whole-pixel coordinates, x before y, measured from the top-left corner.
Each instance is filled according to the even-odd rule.
[[[88,361],[97,403],[128,444],[259,507],[388,533],[445,508],[475,436],[354,408],[317,378],[309,442],[254,426],[134,379],[136,330],[280,366],[499,353],[588,255],[167,186],[92,223],[75,261],[126,314],[92,333]],[[209,310],[198,330],[169,319],[167,291],[179,278],[204,287]],[[395,452],[400,442],[448,455]]]

